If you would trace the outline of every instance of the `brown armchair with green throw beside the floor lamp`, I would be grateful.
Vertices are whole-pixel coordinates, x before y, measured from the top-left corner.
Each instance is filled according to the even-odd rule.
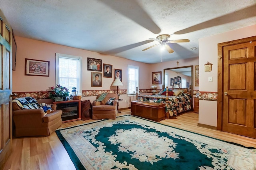
[[[101,96],[99,94],[96,99]],[[116,98],[113,105],[106,105],[106,102],[110,98]],[[104,100],[98,102],[94,100],[92,102],[92,119],[116,119],[118,113],[118,95],[114,93],[108,93]]]

